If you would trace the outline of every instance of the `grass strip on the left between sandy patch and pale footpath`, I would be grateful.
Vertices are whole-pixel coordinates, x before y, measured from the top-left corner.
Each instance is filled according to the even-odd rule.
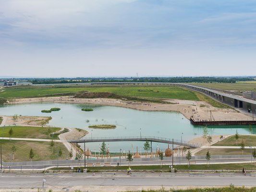
[[[25,126],[7,126],[0,128],[1,137],[9,137],[9,131],[12,128],[13,138],[36,138],[36,139],[59,139],[58,134],[49,134],[47,127],[25,127]],[[61,128],[51,127],[50,133],[57,132]]]

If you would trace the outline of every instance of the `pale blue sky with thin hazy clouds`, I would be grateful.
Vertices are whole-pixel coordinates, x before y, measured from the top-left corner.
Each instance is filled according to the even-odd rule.
[[[255,0],[0,0],[0,76],[256,75]]]

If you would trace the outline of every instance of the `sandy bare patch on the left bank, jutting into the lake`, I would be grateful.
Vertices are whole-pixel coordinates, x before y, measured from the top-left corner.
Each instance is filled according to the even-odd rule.
[[[1,116],[1,117],[3,117],[1,126],[14,125],[12,116]],[[15,120],[15,124],[20,126],[42,126],[47,124],[49,120],[51,120],[51,117],[18,116],[17,120]]]

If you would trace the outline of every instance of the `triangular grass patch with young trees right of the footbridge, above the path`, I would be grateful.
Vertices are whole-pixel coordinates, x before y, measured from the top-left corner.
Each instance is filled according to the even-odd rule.
[[[256,146],[256,135],[239,135],[238,138],[238,146],[242,143],[244,140],[245,146]],[[222,141],[219,141],[216,144],[213,144],[215,146],[237,146],[236,145],[236,139],[235,135],[232,135],[226,139],[223,139]]]

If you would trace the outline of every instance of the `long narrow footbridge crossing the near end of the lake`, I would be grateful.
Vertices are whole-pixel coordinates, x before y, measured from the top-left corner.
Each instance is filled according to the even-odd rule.
[[[174,139],[168,139],[163,137],[95,137],[95,138],[85,138],[78,140],[68,140],[69,143],[96,143],[96,142],[131,142],[131,141],[143,141],[150,142],[151,144],[151,152],[152,152],[152,142],[163,143],[163,144],[175,144],[182,145],[191,148],[201,147],[201,144],[195,144],[185,141],[178,141]]]

